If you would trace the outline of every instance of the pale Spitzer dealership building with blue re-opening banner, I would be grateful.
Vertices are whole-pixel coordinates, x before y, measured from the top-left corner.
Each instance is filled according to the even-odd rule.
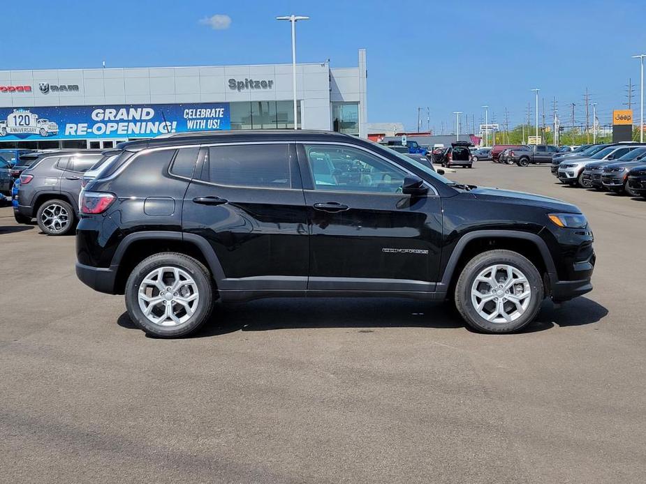
[[[0,70],[0,149],[110,148],[202,130],[334,130],[367,137],[365,50],[329,61],[159,68]]]

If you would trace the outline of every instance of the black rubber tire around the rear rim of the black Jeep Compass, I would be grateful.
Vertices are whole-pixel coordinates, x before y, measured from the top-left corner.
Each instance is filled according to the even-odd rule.
[[[162,267],[177,267],[188,273],[198,287],[198,308],[185,322],[176,326],[161,326],[145,317],[139,305],[139,287],[149,273]],[[193,257],[177,252],[161,252],[142,260],[126,282],[126,310],[132,321],[149,335],[159,338],[179,338],[198,331],[211,315],[214,285],[207,268]]]

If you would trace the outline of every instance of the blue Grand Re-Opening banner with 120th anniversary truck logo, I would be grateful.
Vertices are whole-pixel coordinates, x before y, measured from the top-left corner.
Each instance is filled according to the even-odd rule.
[[[0,141],[229,130],[228,103],[0,108]]]

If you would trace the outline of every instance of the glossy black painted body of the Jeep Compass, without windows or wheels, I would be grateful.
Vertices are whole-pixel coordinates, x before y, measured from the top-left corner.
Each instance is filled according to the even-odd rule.
[[[124,176],[96,179],[86,188],[113,192],[118,199],[106,213],[81,215],[81,280],[103,292],[120,292],[117,271],[129,245],[167,239],[191,244],[203,254],[223,300],[339,293],[442,299],[466,242],[503,237],[536,245],[555,299],[592,289],[592,249],[581,259],[582,248],[591,247],[592,234],[587,229],[561,229],[547,216],[580,213],[575,206],[506,190],[448,186],[391,150],[362,139],[305,131],[233,133],[122,147],[137,152],[224,142],[290,144],[293,185],[245,188],[200,181],[204,149],[193,181],[170,173],[168,163],[148,166],[145,153],[136,153],[122,167]],[[423,179],[429,191],[403,195],[314,190],[302,142],[335,142],[376,152]],[[142,179],[152,188],[142,190]],[[148,193],[172,200],[172,213],[146,215]],[[196,202],[205,197],[223,202]],[[347,209],[314,209],[321,203]]]

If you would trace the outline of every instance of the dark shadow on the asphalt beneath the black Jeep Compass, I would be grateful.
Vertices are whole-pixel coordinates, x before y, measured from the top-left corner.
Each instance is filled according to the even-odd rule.
[[[580,326],[599,322],[608,314],[602,305],[578,298],[556,308],[545,301],[536,321],[521,333],[536,333],[554,326]],[[117,324],[136,329],[127,312]],[[453,303],[431,303],[398,298],[274,298],[248,303],[216,303],[210,322],[193,338],[235,331],[270,331],[297,328],[465,328]]]

